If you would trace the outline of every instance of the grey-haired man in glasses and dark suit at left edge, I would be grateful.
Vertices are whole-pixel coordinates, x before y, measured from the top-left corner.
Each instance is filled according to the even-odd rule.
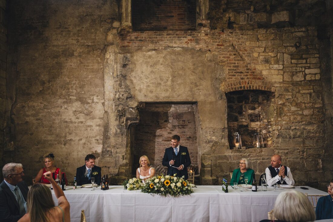
[[[22,180],[23,166],[8,163],[2,168],[4,181],[0,184],[0,221],[18,221],[27,212],[29,188]]]

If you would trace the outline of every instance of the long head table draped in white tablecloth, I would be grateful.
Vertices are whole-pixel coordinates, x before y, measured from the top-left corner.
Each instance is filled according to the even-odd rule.
[[[103,191],[97,188],[68,189],[65,191],[71,205],[71,221],[80,221],[81,210],[85,210],[87,222],[101,221],[260,221],[267,219],[267,212],[273,209],[275,199],[280,192],[272,187],[263,192],[240,192],[229,188],[224,193],[221,186],[197,186],[194,193],[181,197],[161,197],[141,193],[141,190],[128,191],[122,186],[110,186]],[[307,187],[302,190],[308,194],[327,194]],[[53,191],[52,191],[53,193]],[[58,204],[57,199],[53,199]]]

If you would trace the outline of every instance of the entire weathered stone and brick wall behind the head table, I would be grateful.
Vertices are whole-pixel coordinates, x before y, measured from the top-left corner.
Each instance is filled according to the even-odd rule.
[[[276,153],[296,185],[324,189],[333,175],[332,37],[318,39],[314,26],[254,29],[232,20],[215,20],[216,30],[201,20],[198,30],[132,32],[121,27],[118,3],[8,1],[5,139],[13,146],[3,149],[4,162],[23,163],[30,178],[43,154],[54,152],[72,178],[94,153],[102,173],[119,183],[136,164],[130,132],[142,103],[182,102],[196,104],[201,184],[228,177],[243,157],[259,176]],[[226,7],[240,13],[235,4]],[[261,13],[255,10],[246,16]],[[230,150],[225,93],[252,89],[275,94],[269,147]]]

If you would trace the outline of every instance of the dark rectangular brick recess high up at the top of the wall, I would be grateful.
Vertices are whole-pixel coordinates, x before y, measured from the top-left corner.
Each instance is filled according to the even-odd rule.
[[[196,29],[195,0],[132,0],[134,31]]]

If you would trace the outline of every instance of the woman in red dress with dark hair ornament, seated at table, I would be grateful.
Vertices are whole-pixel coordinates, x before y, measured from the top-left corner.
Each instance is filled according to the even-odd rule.
[[[53,166],[53,163],[54,163],[53,153],[44,155],[45,167],[38,172],[35,183],[50,184],[50,181],[48,181],[44,177],[44,174],[48,171],[55,174],[54,175],[55,179],[57,179],[57,174],[58,174],[59,180],[61,181],[61,179],[62,179],[61,170],[60,170],[60,168]]]

